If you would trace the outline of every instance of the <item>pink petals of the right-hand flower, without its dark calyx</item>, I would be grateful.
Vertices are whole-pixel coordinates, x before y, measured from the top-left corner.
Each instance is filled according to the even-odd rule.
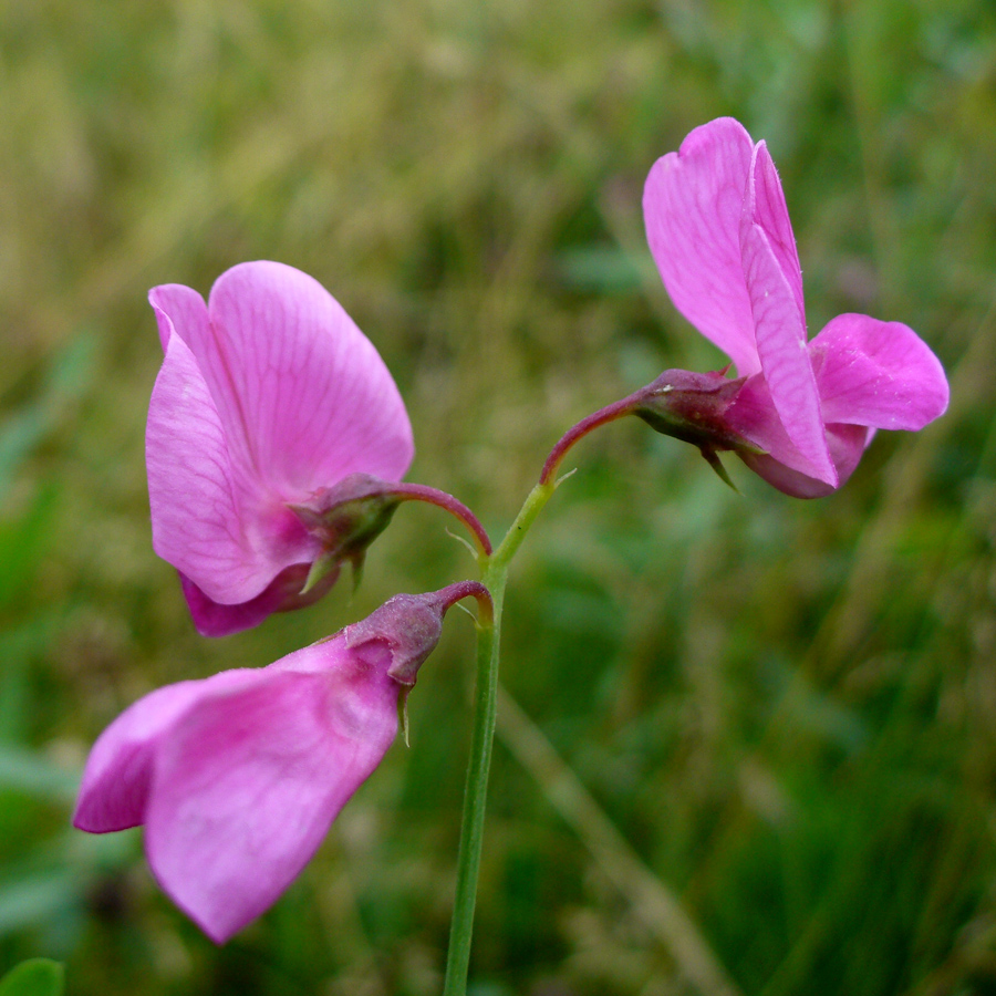
[[[829,494],[875,429],[920,429],[944,413],[944,371],[906,325],[841,314],[807,342],[781,183],[738,122],[703,125],[658,159],[643,209],[671,299],[745,378],[724,427],[751,444],[736,452],[775,487]]]

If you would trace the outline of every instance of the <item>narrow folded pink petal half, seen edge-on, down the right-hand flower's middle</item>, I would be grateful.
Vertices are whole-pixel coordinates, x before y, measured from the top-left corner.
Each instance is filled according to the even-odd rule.
[[[767,184],[764,157],[759,172],[762,185]],[[806,465],[799,469],[837,487],[837,471],[827,448],[820,398],[806,343],[806,325],[792,283],[758,220],[755,175],[751,169],[740,227],[740,251],[761,371],[786,434],[805,460]],[[765,196],[769,198],[770,190]]]

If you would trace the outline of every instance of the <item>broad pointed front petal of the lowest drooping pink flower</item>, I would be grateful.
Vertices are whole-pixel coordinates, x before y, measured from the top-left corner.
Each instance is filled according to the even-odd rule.
[[[299,653],[342,656],[336,641]],[[287,889],[394,739],[398,686],[345,661],[325,674],[267,668],[205,695],[160,745],[146,853],[219,943]]]

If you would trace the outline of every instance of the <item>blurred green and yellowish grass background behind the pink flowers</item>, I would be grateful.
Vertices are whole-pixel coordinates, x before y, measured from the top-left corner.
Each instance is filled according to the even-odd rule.
[[[512,571],[473,992],[996,993],[984,0],[7,0],[0,969],[60,958],[77,996],[439,990],[459,614],[411,749],[226,947],[160,894],[137,833],[68,829],[90,744],[145,692],[474,575],[408,506],[352,601],[198,637],[149,544],[145,295],[246,259],[312,273],[396,375],[409,478],[500,536],[569,425],[719,365],[661,286],[641,191],[720,114],[779,166],[810,329],[909,323],[951,411],[880,434],[818,502],[729,461],[736,495],[636,421],[574,450]]]

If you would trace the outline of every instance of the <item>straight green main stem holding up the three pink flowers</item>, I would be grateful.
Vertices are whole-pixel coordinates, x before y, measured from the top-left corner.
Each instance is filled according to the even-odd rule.
[[[508,564],[526,538],[529,527],[549,501],[554,487],[554,484],[547,481],[538,484],[532,489],[498,549],[484,561],[481,580],[491,593],[495,616],[490,625],[480,625],[477,637],[474,728],[470,734],[470,760],[467,767],[460,849],[457,857],[456,898],[449,927],[449,951],[446,957],[446,982],[443,986],[443,996],[465,996],[467,992],[470,938],[474,933],[474,906],[477,902],[477,879],[484,843],[488,772],[491,767],[491,747],[495,741],[498,707],[498,653]]]

